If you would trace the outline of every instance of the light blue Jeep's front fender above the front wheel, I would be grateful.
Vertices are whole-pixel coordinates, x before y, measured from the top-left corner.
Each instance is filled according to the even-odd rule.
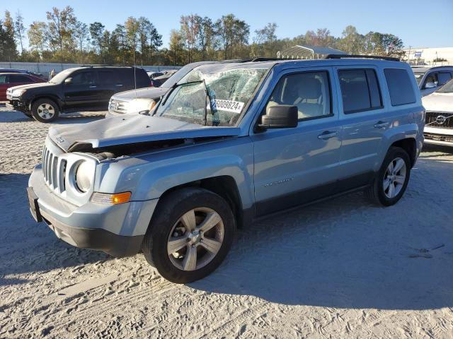
[[[176,186],[219,176],[234,179],[243,208],[253,206],[253,144],[248,137],[101,164],[95,186],[105,193],[132,191],[131,200],[147,201]]]

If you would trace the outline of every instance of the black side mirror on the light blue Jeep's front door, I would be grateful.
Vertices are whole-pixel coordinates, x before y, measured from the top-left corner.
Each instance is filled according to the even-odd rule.
[[[297,127],[297,107],[292,105],[275,105],[268,107],[268,112],[261,117],[261,129],[288,129]]]

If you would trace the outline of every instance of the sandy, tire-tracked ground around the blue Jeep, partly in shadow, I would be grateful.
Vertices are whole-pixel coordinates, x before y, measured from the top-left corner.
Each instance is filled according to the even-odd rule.
[[[357,193],[264,220],[173,285],[32,220],[48,127],[0,109],[0,338],[453,338],[453,150],[425,150],[396,206]]]

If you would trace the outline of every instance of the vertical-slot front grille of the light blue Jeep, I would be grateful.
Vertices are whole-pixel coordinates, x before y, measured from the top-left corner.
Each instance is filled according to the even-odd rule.
[[[67,162],[53,154],[49,148],[42,148],[42,175],[47,186],[62,193],[66,190],[64,186],[64,175]]]

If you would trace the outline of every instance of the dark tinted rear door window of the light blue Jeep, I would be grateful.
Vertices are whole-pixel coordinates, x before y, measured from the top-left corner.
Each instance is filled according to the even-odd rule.
[[[345,114],[382,108],[381,91],[374,69],[342,69],[340,78]]]

